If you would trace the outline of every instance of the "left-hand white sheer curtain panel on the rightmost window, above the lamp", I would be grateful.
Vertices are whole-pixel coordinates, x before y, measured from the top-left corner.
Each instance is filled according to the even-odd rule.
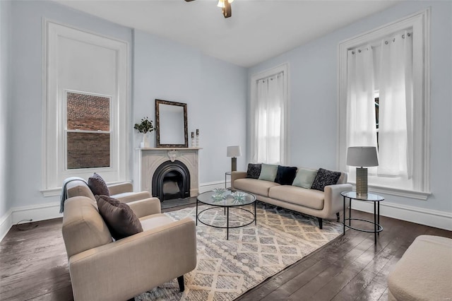
[[[348,146],[376,146],[374,57],[370,45],[347,53]]]

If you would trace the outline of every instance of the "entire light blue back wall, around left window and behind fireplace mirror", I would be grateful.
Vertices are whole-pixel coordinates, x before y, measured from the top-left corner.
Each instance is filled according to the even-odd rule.
[[[200,182],[224,180],[224,172],[230,169],[226,146],[239,144],[245,148],[246,120],[246,69],[208,57],[195,49],[179,45],[159,37],[137,32],[61,6],[52,1],[1,2],[2,34],[1,64],[2,89],[6,85],[3,74],[8,72],[3,64],[8,62],[4,48],[11,46],[11,101],[8,114],[11,136],[7,144],[11,148],[8,163],[8,187],[11,202],[0,205],[0,217],[12,207],[35,206],[59,201],[58,196],[44,198],[42,189],[42,20],[47,18],[65,25],[72,25],[88,32],[106,35],[129,42],[130,61],[134,61],[131,75],[131,176],[137,172],[133,165],[134,148],[140,137],[133,131],[133,124],[142,117],[155,119],[154,100],[186,102],[189,112],[189,131],[200,129]],[[7,6],[10,8],[3,9]],[[3,29],[4,14],[11,11],[11,27]],[[11,34],[11,41],[4,43]],[[134,39],[134,40],[133,40]],[[5,46],[6,45],[6,46]],[[5,63],[6,62],[6,63]],[[132,82],[132,78],[134,81]],[[133,83],[133,87],[132,87]],[[133,90],[133,95],[132,95]],[[7,98],[2,90],[2,104]],[[0,117],[6,115],[3,106]],[[6,122],[6,118],[1,118]],[[1,128],[6,134],[6,126]],[[153,137],[155,139],[155,136]],[[2,155],[0,150],[0,156]],[[3,163],[2,163],[3,164]],[[239,168],[245,168],[239,158]],[[4,169],[1,169],[2,171]],[[1,176],[1,174],[0,174]],[[4,175],[3,175],[4,176]],[[1,185],[1,184],[0,184]],[[1,189],[0,191],[5,191]],[[6,196],[0,196],[7,199]]]

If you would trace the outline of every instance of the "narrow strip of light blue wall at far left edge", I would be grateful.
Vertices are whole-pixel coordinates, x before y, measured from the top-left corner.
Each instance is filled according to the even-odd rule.
[[[0,1],[0,223],[13,206],[8,189],[8,103],[11,100],[11,1]]]

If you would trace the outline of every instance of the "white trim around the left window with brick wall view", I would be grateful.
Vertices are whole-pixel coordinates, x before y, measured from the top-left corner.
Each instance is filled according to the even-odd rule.
[[[114,95],[109,95],[112,106],[110,120],[110,131],[117,131],[117,135],[112,135],[110,143],[112,149],[117,153],[115,158],[111,158],[112,167],[107,167],[112,172],[105,177],[109,184],[118,182],[130,182],[129,172],[129,113],[130,113],[130,97],[129,97],[129,42],[118,40],[114,37],[100,35],[98,33],[76,28],[71,25],[43,18],[42,20],[42,184],[40,191],[42,195],[57,196],[61,193],[62,180],[61,171],[66,170],[65,158],[61,158],[61,143],[65,142],[64,126],[65,122],[61,122],[62,107],[66,104],[58,104],[58,98],[66,101],[66,90],[57,90],[57,82],[52,82],[52,76],[55,78],[55,62],[49,59],[52,54],[57,53],[55,40],[57,37],[69,37],[73,40],[80,39],[83,42],[93,45],[102,45],[116,52],[117,62],[117,88]],[[53,72],[53,73],[52,73]],[[88,93],[88,92],[83,92]],[[95,93],[88,93],[95,94]],[[121,114],[119,114],[121,113]],[[64,123],[64,124],[62,124]],[[64,141],[62,141],[64,140]],[[66,147],[64,147],[66,149]],[[65,156],[63,156],[65,157]],[[105,167],[102,167],[105,169]],[[76,172],[78,171],[78,173]],[[86,172],[74,170],[74,172],[66,172],[67,176],[88,177],[94,171],[103,172],[101,169],[90,168]]]

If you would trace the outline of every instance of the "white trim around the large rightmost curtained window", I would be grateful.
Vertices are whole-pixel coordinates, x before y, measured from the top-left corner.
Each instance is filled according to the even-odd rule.
[[[347,108],[347,50],[374,42],[400,30],[413,30],[413,114],[414,149],[420,150],[413,158],[413,189],[398,189],[376,183],[369,184],[369,190],[414,199],[427,199],[430,194],[430,15],[431,8],[400,18],[392,23],[369,30],[338,45],[338,170],[345,170],[346,146],[346,108]],[[374,177],[373,177],[374,178]],[[371,180],[371,177],[369,177]],[[374,178],[375,179],[375,178]]]

